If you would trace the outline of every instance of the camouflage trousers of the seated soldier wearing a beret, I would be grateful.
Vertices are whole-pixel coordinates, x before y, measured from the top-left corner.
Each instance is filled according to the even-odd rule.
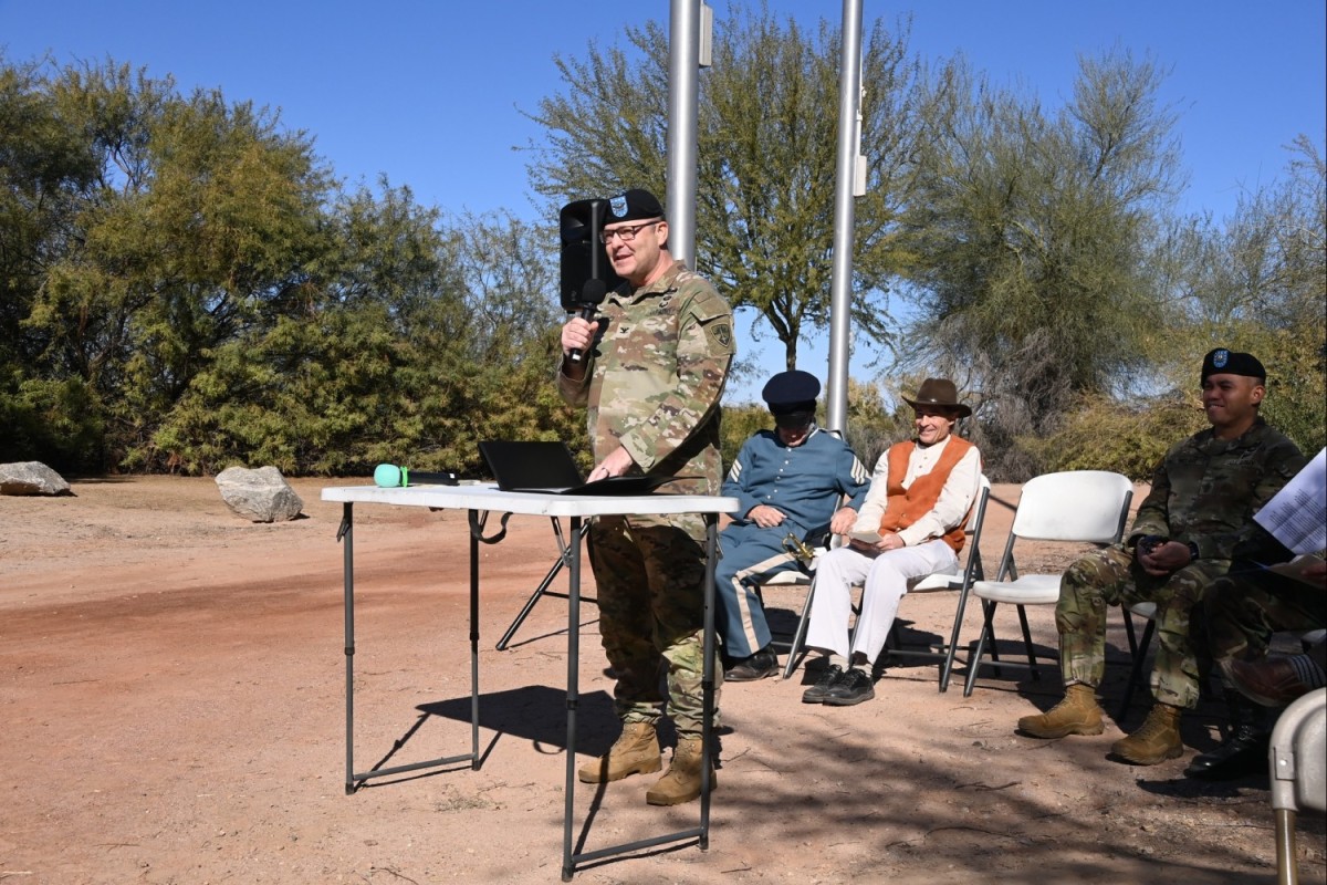
[[[1060,598],[1055,605],[1064,685],[1083,682],[1093,689],[1101,685],[1111,606],[1156,602],[1152,697],[1186,710],[1198,706],[1198,659],[1189,636],[1189,617],[1204,590],[1226,568],[1225,560],[1204,560],[1153,577],[1119,544],[1074,563],[1060,579]]]

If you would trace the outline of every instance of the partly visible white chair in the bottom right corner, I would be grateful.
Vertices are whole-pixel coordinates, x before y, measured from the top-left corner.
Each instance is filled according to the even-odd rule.
[[[1267,748],[1271,809],[1277,831],[1277,884],[1295,885],[1295,813],[1327,811],[1327,689],[1316,689],[1286,707]]]

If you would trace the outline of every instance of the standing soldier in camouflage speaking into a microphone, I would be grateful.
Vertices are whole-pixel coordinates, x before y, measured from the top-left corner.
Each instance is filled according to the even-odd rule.
[[[609,293],[593,322],[573,317],[563,326],[557,377],[563,398],[589,411],[596,462],[589,479],[685,476],[670,488],[718,495],[733,310],[671,257],[664,207],[648,191],[610,200],[601,239],[629,291]],[[701,795],[705,523],[697,515],[601,516],[591,524],[589,559],[622,735],[580,779],[601,783],[662,767],[656,723],[666,669],[678,746],[646,801],[690,801]]]

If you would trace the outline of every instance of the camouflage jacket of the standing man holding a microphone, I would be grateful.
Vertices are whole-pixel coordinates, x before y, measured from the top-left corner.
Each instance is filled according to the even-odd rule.
[[[649,285],[609,293],[598,322],[585,377],[557,375],[563,399],[589,411],[594,460],[622,446],[632,474],[697,476],[669,491],[718,495],[719,398],[736,352],[727,301],[677,261]]]

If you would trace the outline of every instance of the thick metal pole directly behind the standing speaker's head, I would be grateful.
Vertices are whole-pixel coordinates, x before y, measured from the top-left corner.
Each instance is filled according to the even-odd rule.
[[[667,62],[667,245],[695,268],[695,130],[701,0],[671,0]]]

